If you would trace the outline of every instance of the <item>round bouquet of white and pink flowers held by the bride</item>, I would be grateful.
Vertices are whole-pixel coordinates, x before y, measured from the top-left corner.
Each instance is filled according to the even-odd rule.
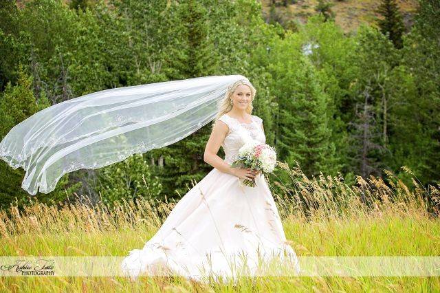
[[[239,149],[239,158],[232,162],[232,167],[250,168],[254,171],[272,173],[276,166],[276,151],[269,144],[262,144],[258,140],[250,140]],[[255,187],[255,179],[245,179],[243,184]]]

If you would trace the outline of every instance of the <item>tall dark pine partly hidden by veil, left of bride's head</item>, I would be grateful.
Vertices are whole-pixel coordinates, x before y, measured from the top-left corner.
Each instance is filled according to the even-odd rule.
[[[213,56],[214,47],[208,34],[206,8],[195,0],[179,3],[177,15],[181,25],[178,47],[168,54],[170,79],[185,79],[214,74],[218,60]],[[188,135],[187,138],[163,149],[164,193],[184,195],[192,180],[201,180],[212,167],[203,161],[204,146],[211,132],[210,123]]]

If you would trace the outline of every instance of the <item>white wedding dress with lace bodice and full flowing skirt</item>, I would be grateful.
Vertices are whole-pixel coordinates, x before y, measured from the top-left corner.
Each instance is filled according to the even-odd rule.
[[[221,144],[225,162],[236,160],[247,140],[265,143],[258,116],[252,116],[252,123],[241,123],[227,114],[219,120],[229,127]],[[177,202],[144,248],[131,250],[123,259],[124,274],[132,279],[140,274],[157,276],[164,268],[196,281],[206,280],[208,274],[236,281],[239,273],[256,276],[259,260],[273,260],[276,255],[298,274],[298,258],[285,242],[264,175],[255,177],[256,187],[243,186],[240,181],[239,177],[212,169]]]

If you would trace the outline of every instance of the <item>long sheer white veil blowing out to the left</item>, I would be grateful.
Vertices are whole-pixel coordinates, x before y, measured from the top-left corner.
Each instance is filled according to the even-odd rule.
[[[65,174],[98,169],[173,144],[212,121],[241,75],[106,89],[47,107],[0,142],[0,158],[26,171],[21,187],[50,193]]]

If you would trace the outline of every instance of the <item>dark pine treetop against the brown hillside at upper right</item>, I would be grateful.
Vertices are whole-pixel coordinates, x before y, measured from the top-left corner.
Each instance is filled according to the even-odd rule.
[[[403,47],[402,35],[405,32],[405,25],[396,1],[382,0],[377,13],[383,17],[378,21],[382,34],[387,35],[395,47],[399,49]]]

